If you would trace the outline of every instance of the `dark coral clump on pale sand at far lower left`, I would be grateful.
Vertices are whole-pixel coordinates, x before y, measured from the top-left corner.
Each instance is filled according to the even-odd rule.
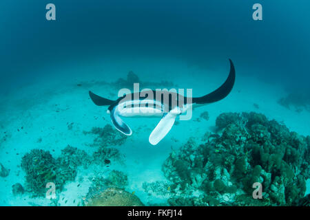
[[[85,151],[67,146],[61,156],[54,159],[49,151],[33,149],[26,153],[21,160],[21,168],[26,174],[26,190],[34,196],[43,196],[46,184],[53,182],[56,190],[61,191],[66,181],[76,177],[78,166],[87,166],[89,157]]]

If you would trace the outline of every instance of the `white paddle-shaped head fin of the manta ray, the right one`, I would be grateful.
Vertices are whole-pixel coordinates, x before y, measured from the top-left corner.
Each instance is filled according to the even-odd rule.
[[[152,131],[151,135],[149,135],[149,143],[152,145],[158,144],[165,135],[172,129],[174,125],[174,121],[176,120],[176,113],[169,111],[163,115],[161,121],[157,124],[155,129]]]

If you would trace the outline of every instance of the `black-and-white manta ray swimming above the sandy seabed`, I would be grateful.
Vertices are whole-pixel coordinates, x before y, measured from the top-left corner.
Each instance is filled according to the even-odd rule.
[[[218,102],[228,96],[234,87],[236,78],[234,64],[230,59],[229,63],[230,72],[225,83],[211,93],[197,98],[185,97],[183,94],[171,90],[158,91],[157,89],[155,91],[143,89],[143,91],[128,93],[117,100],[97,96],[92,91],[89,91],[89,94],[94,104],[109,106],[107,113],[110,113],[112,124],[125,135],[132,135],[132,129],[121,117],[161,117],[155,129],[149,135],[149,143],[156,145],[172,129],[177,115],[186,113],[189,109],[192,110],[193,107]]]

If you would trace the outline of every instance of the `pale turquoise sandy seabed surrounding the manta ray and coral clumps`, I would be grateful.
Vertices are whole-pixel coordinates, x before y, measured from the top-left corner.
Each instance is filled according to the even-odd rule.
[[[216,117],[220,113],[256,111],[264,113],[269,120],[283,122],[290,131],[310,135],[309,112],[297,113],[278,104],[278,99],[285,96],[280,85],[245,77],[244,73],[238,72],[238,65],[236,69],[236,85],[225,100],[194,109],[192,120],[180,121],[178,125],[174,125],[156,146],[149,144],[148,137],[159,118],[126,118],[133,134],[125,144],[115,146],[125,155],[124,161],[113,163],[109,168],[97,165],[87,169],[79,167],[75,181],[65,184],[60,193],[59,203],[62,206],[76,206],[76,201],[81,201],[87,194],[92,177],[105,177],[110,170],[126,173],[129,184],[125,190],[134,192],[143,203],[167,201],[167,197],[148,195],[142,188],[143,182],[167,181],[161,166],[172,148],[179,148],[189,137],[200,138],[206,131],[213,131]],[[90,131],[94,126],[103,127],[111,122],[110,115],[105,112],[106,107],[94,105],[88,96],[88,90],[116,99],[117,90],[103,81],[113,82],[117,78],[125,78],[130,70],[143,81],[168,80],[179,88],[192,88],[193,96],[213,91],[223,83],[229,72],[228,62],[216,71],[206,71],[178,61],[110,61],[52,69],[33,83],[8,91],[0,99],[0,162],[10,173],[8,177],[0,177],[0,206],[50,205],[50,200],[44,197],[32,198],[28,193],[17,196],[12,194],[13,184],[25,184],[21,158],[33,148],[50,151],[53,157],[58,157],[61,149],[68,145],[87,153],[95,151],[95,147],[90,146],[94,142],[94,136],[85,135],[83,131]],[[196,119],[203,111],[208,111],[209,120],[198,122]],[[72,129],[68,129],[68,124],[72,124]],[[309,192],[308,180],[306,194]]]

